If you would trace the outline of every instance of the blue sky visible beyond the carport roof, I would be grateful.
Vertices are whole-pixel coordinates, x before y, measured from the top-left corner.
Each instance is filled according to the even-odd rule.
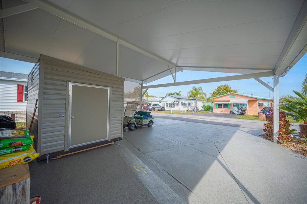
[[[33,63],[22,62],[18,60],[11,60],[7,58],[0,58],[0,69],[1,71],[10,71],[17,73],[28,74],[32,67]],[[293,95],[292,90],[301,90],[302,82],[307,73],[307,54],[301,58],[297,64],[292,67],[292,69],[288,72],[288,74],[280,79],[280,96],[291,94]],[[220,73],[220,72],[202,72],[202,71],[183,71],[177,73],[177,81],[189,81],[196,79],[208,79],[214,77],[222,77],[222,76],[230,76],[235,74],[230,73]],[[272,77],[263,77],[261,78],[264,82],[271,82],[270,86],[273,86]],[[173,78],[171,75],[149,83],[152,84],[161,84],[161,83],[171,83],[173,82]],[[226,81],[226,82],[215,82],[215,83],[203,83],[196,84],[196,87],[201,86],[206,92],[207,96],[210,95],[212,90],[214,90],[217,86],[221,84],[228,84],[233,89],[236,89],[238,93],[242,94],[253,94],[256,96],[269,97],[269,90],[258,83],[255,79],[242,79],[235,81]],[[186,95],[188,90],[190,90],[193,85],[185,85],[185,86],[175,86],[175,87],[163,87],[163,88],[153,88],[149,89],[148,93],[150,95],[155,95],[157,97],[165,96],[166,93],[169,92],[178,92],[181,91],[181,95]],[[273,93],[270,92],[270,98],[273,97]]]

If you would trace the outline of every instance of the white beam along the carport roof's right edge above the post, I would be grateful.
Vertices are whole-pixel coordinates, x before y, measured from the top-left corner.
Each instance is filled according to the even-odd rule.
[[[279,56],[277,63],[275,65],[275,69],[276,69],[276,71],[274,73],[275,75],[281,75],[285,71],[285,69],[289,67],[289,64],[282,66],[282,63],[284,62],[284,60],[285,60],[286,56],[288,55],[294,41],[296,40],[298,34],[301,32],[301,29],[305,25],[306,21],[307,21],[307,1],[304,1],[303,5],[301,7],[301,10],[298,13],[297,18],[294,22],[294,25],[291,29],[291,32],[288,36],[286,44],[285,44],[285,46],[282,50],[282,53]]]

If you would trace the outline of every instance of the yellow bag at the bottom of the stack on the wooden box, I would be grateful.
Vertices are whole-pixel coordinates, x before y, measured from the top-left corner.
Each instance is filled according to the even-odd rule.
[[[22,152],[2,155],[0,156],[0,169],[12,167],[18,164],[26,164],[37,158],[39,155],[40,154],[33,148],[29,148]]]

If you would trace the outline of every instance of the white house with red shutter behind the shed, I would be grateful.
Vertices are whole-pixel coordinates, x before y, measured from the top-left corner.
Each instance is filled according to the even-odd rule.
[[[0,114],[26,120],[28,75],[0,71]]]

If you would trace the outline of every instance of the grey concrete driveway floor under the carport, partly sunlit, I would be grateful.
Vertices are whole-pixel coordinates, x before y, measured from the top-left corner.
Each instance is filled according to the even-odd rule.
[[[42,203],[306,203],[307,158],[242,127],[154,119],[116,144],[29,163]]]

